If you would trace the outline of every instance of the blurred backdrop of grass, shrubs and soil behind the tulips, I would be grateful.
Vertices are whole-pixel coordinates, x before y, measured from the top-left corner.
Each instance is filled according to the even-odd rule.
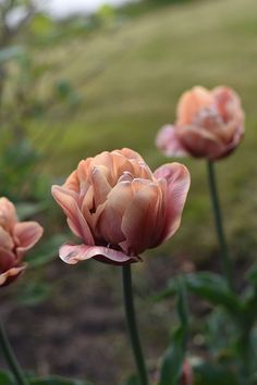
[[[99,385],[134,371],[121,270],[59,261],[58,247],[72,235],[50,186],[103,150],[133,148],[151,169],[174,161],[158,152],[155,138],[194,85],[231,86],[246,113],[243,144],[217,163],[225,232],[237,285],[244,285],[257,250],[256,63],[255,0],[0,0],[0,195],[16,203],[21,219],[46,228],[27,273],[0,293],[26,370]],[[171,300],[152,303],[149,295],[179,272],[220,271],[206,163],[180,161],[192,173],[181,228],[133,266],[152,376],[176,320]],[[213,337],[203,319],[209,309],[194,298],[189,306],[191,353],[206,355]]]

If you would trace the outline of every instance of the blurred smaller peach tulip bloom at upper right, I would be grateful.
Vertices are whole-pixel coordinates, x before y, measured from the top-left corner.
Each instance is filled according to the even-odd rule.
[[[235,91],[223,86],[194,87],[182,95],[175,124],[162,127],[156,142],[169,157],[217,160],[231,153],[243,135],[244,112]]]

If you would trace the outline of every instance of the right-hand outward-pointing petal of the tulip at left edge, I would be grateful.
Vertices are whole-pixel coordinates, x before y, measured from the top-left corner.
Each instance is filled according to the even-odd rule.
[[[19,245],[16,248],[20,257],[24,251],[30,249],[42,236],[44,228],[37,222],[19,222],[13,229],[14,239]]]

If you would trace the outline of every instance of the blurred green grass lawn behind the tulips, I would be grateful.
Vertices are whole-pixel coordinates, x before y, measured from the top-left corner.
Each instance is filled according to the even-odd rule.
[[[246,112],[244,142],[217,164],[227,232],[236,256],[255,256],[257,237],[257,2],[209,0],[173,4],[122,25],[79,36],[40,50],[70,80],[81,104],[63,119],[54,109],[44,123],[48,160],[56,175],[68,175],[79,159],[102,150],[131,147],[155,169],[164,159],[155,148],[161,125],[172,122],[180,95],[194,85],[230,85]],[[51,77],[44,79],[48,92]],[[41,126],[44,124],[44,126]],[[173,160],[172,160],[173,161]],[[182,159],[192,172],[178,252],[200,258],[213,249],[205,161]],[[171,249],[171,245],[164,247]],[[160,252],[159,250],[157,251]],[[167,251],[166,251],[167,252]]]

